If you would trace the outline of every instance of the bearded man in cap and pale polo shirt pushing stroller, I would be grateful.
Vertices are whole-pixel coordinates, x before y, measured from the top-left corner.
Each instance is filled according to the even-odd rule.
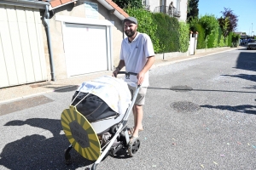
[[[116,77],[124,66],[126,72],[137,73],[137,77],[131,75],[130,79],[125,79],[131,96],[135,93],[137,85],[141,85],[132,108],[134,115],[134,128],[130,129],[132,135],[130,142],[132,142],[138,138],[138,132],[143,130],[143,105],[148,87],[148,70],[154,64],[154,48],[150,37],[137,31],[136,18],[128,17],[124,20],[124,31],[127,37],[121,44],[119,65],[113,71],[113,76]]]

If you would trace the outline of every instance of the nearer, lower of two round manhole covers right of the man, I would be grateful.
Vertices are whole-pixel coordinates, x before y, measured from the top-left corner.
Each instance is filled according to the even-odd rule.
[[[199,111],[200,106],[189,101],[177,101],[171,104],[172,109],[175,111],[192,112]]]

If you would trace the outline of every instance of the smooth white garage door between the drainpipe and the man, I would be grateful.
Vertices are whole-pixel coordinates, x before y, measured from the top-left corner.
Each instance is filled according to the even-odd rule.
[[[67,77],[108,70],[107,27],[65,23]]]

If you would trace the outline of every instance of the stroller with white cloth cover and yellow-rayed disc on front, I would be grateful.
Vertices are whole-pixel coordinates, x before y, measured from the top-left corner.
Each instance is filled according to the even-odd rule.
[[[137,73],[119,71],[126,79]],[[128,117],[137,98],[140,85],[131,101],[127,83],[115,77],[100,77],[84,82],[73,95],[69,109],[61,113],[61,125],[70,142],[65,150],[66,164],[71,163],[69,151],[74,148],[84,158],[95,161],[91,169],[106,156],[113,156],[120,149],[134,156],[140,140],[130,141]],[[87,167],[90,169],[90,167]]]

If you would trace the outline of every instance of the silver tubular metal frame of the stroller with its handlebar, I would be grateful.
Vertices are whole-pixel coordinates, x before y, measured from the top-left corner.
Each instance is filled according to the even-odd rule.
[[[126,79],[129,79],[130,75],[134,75],[134,76],[137,76],[137,73],[133,73],[133,72],[125,72],[125,71],[119,71],[118,74],[125,74],[125,77]],[[94,164],[92,165],[92,167],[86,167],[85,170],[96,170],[96,167],[97,165],[106,157],[108,156],[108,153],[111,149],[111,147],[113,146],[113,143],[115,142],[115,140],[118,138],[119,134],[124,132],[125,133],[125,145],[124,144],[119,144],[115,150],[113,150],[113,155],[119,151],[121,148],[127,148],[129,153],[130,153],[130,156],[133,156],[133,143],[129,143],[130,141],[130,137],[129,137],[129,133],[128,133],[128,130],[127,130],[127,122],[128,122],[128,118],[131,114],[131,111],[132,111],[132,108],[133,108],[133,105],[135,104],[135,101],[137,99],[137,94],[139,92],[139,89],[141,88],[141,85],[137,85],[137,89],[136,89],[136,92],[133,96],[133,99],[131,101],[131,105],[129,105],[128,109],[126,110],[125,112],[125,116],[123,116],[122,120],[118,123],[118,129],[116,130],[116,133],[114,133],[113,137],[111,137],[112,139],[110,139],[108,141],[107,144],[105,144],[103,146],[104,150],[102,151],[101,155],[97,158],[97,160],[94,162]],[[135,153],[137,152],[137,150],[139,149],[139,145],[140,145],[140,141],[139,139],[137,139],[136,141],[134,142],[137,142],[137,148],[135,150]],[[69,154],[69,151],[73,148],[73,145],[70,144],[67,148],[67,150],[65,150],[65,160],[66,160],[66,164],[70,164],[71,162],[71,156]]]

